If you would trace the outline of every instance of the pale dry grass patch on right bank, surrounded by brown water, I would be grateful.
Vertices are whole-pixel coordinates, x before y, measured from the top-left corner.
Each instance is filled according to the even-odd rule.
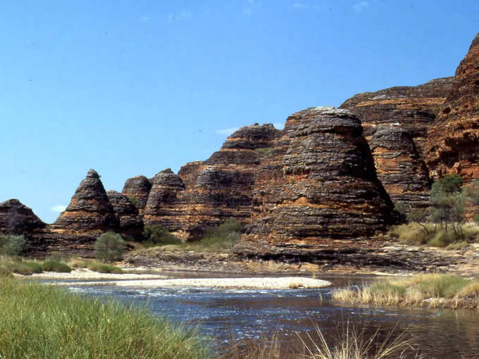
[[[332,294],[340,303],[374,306],[424,306],[479,308],[479,280],[458,275],[415,275],[381,280],[358,289],[340,289]]]

